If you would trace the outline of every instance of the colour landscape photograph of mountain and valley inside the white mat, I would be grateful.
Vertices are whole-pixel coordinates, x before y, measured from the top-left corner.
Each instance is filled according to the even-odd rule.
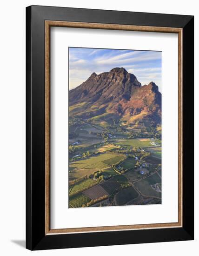
[[[68,56],[68,207],[161,204],[162,52]]]

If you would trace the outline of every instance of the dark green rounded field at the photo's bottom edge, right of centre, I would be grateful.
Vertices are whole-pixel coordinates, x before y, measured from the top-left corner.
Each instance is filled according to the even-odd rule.
[[[115,195],[115,202],[116,205],[124,205],[136,197],[138,197],[138,193],[133,187],[130,187],[128,189],[120,190],[119,193]]]

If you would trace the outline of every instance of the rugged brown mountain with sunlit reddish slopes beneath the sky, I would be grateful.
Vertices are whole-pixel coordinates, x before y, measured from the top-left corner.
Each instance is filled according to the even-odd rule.
[[[154,82],[141,86],[136,76],[123,67],[101,74],[93,72],[69,91],[69,116],[90,119],[100,115],[128,122],[146,118],[160,123],[161,93]]]

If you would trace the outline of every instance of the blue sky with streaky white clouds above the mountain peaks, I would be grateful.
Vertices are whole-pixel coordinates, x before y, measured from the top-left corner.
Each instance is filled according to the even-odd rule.
[[[161,52],[95,48],[69,48],[69,89],[79,86],[95,72],[124,67],[141,85],[153,81],[162,91]]]

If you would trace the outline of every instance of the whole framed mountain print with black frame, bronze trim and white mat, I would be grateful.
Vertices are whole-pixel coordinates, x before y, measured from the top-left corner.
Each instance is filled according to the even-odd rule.
[[[192,240],[193,16],[27,7],[27,249]]]

